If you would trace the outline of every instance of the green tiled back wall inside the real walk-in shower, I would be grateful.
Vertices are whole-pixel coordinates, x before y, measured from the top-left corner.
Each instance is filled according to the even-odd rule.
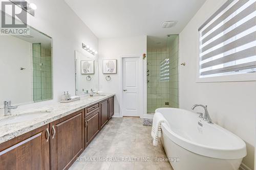
[[[167,58],[166,48],[147,49],[147,113],[155,113],[160,107],[165,105],[168,99],[168,83],[160,80],[160,68]]]

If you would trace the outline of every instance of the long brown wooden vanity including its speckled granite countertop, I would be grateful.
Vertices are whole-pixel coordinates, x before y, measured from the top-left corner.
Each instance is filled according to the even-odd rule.
[[[114,115],[114,94],[41,109],[50,113],[27,122],[2,126],[1,117],[1,170],[68,169]]]

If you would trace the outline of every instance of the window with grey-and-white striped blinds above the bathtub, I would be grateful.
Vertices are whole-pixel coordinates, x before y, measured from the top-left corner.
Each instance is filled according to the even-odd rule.
[[[256,72],[256,0],[229,0],[200,28],[200,78]]]

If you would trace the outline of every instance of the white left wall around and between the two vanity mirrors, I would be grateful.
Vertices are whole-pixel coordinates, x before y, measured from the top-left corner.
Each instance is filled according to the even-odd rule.
[[[83,42],[98,51],[98,38],[63,0],[30,3],[37,9],[34,17],[28,14],[29,25],[53,38],[53,101],[20,108],[56,102],[63,91],[75,95],[75,50],[87,54],[81,47]]]

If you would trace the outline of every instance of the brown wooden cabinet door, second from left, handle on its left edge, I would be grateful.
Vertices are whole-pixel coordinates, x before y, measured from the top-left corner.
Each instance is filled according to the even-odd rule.
[[[50,124],[51,169],[68,169],[84,150],[84,110]]]

